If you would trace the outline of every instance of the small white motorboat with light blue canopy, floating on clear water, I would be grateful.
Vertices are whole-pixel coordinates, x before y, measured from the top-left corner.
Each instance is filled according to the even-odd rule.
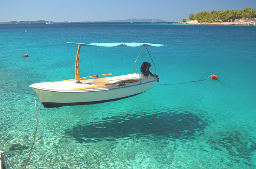
[[[42,82],[30,85],[37,94],[44,107],[61,107],[71,105],[96,104],[107,101],[116,101],[125,99],[137,94],[143,93],[156,85],[158,76],[156,75],[156,66],[154,64],[154,74],[149,71],[151,64],[143,62],[140,71],[135,73],[135,64],[144,48],[148,51],[147,46],[166,46],[150,43],[73,43],[78,44],[75,64],[75,79],[63,80],[58,82]],[[100,76],[108,76],[112,73],[88,76],[80,78],[79,76],[79,55],[82,46],[104,46],[113,47],[118,45],[126,45],[136,47],[143,45],[139,56],[134,62],[134,73],[99,78]]]

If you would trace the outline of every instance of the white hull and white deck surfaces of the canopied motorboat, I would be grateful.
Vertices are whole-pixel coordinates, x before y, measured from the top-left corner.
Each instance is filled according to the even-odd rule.
[[[125,75],[124,75],[125,76]],[[131,74],[127,76],[140,76],[140,74]],[[119,76],[120,77],[120,76]],[[113,79],[113,77],[111,77]],[[111,78],[106,78],[111,80]],[[104,78],[101,78],[102,80]],[[110,85],[104,87],[95,87],[84,90],[58,90],[58,88],[42,87],[42,85],[47,85],[50,82],[38,83],[30,85],[33,88],[35,93],[38,95],[40,101],[44,107],[61,107],[61,106],[70,106],[70,105],[84,105],[84,104],[96,104],[103,103],[107,101],[115,101],[119,99],[125,99],[130,96],[135,96],[137,94],[143,93],[147,90],[150,90],[156,85],[157,79],[154,77],[143,77],[139,81],[122,83],[119,85]],[[73,86],[76,85],[75,82],[58,82],[70,83]],[[85,83],[84,83],[85,84]],[[77,84],[81,85],[83,84]]]

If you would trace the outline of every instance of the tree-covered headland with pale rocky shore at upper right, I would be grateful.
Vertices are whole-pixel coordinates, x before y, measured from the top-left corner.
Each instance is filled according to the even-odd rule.
[[[202,11],[197,14],[190,14],[189,22],[186,22],[186,19],[183,18],[183,21],[179,24],[248,25],[249,23],[256,25],[256,9],[245,8],[240,11]]]

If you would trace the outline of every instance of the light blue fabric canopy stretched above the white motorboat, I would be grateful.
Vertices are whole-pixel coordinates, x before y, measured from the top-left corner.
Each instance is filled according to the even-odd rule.
[[[126,45],[126,46],[130,46],[130,47],[137,47],[137,46],[141,46],[141,45],[154,46],[154,47],[166,46],[166,45],[154,44],[154,43],[136,43],[136,42],[131,42],[131,43],[74,43],[74,42],[67,42],[67,44],[69,44],[69,43],[80,44],[82,46],[103,46],[103,47],[114,47],[114,46],[119,46],[119,45]]]

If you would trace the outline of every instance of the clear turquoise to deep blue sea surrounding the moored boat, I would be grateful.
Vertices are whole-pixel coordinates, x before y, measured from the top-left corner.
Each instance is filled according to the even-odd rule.
[[[16,169],[36,127],[29,85],[74,78],[77,45],[66,42],[166,44],[148,47],[160,82],[102,104],[44,108],[37,98],[27,168],[256,168],[256,26],[62,23],[0,25],[0,150]],[[133,73],[140,50],[82,47],[80,75]],[[146,51],[137,72],[143,61]],[[212,74],[219,81],[191,82]]]

